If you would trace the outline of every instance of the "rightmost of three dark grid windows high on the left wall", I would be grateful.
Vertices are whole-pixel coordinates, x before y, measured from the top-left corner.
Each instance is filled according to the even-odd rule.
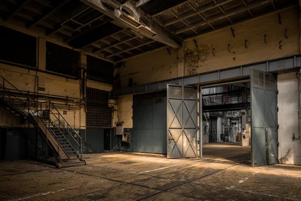
[[[87,79],[113,84],[114,64],[87,55]]]

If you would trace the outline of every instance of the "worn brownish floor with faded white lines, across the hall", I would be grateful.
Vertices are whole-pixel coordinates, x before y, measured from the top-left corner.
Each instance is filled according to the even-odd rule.
[[[250,167],[250,147],[206,144],[204,158],[104,152],[55,169],[0,163],[0,200],[301,200],[301,167]]]

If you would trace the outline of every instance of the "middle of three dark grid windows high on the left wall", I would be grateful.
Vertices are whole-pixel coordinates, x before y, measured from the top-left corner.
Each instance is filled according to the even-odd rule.
[[[69,48],[46,42],[46,70],[78,77],[80,53]]]

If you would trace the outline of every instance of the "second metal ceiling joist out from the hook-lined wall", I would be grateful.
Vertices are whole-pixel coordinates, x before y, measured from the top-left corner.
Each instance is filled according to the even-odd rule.
[[[195,15],[199,15],[199,14],[204,13],[206,11],[209,11],[211,9],[218,8],[218,7],[220,7],[220,6],[224,5],[224,4],[227,4],[227,3],[232,2],[232,1],[234,1],[234,0],[227,0],[227,1],[220,0],[220,1],[215,1],[216,3],[214,3],[214,4],[205,5],[205,6],[197,8],[195,12],[187,12],[187,13],[179,15],[178,16],[179,18],[177,18],[177,19],[167,20],[166,22],[163,22],[163,26],[166,27],[166,26],[175,24],[177,22],[180,22],[181,20],[185,20],[187,18],[193,17]]]

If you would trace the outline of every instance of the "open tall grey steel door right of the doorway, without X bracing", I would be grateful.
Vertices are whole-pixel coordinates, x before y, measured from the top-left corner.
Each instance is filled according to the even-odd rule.
[[[276,87],[273,74],[251,69],[252,167],[278,161]]]

